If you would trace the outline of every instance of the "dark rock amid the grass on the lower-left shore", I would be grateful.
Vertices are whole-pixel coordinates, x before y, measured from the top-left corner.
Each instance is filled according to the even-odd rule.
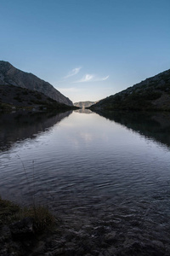
[[[11,235],[15,239],[25,239],[34,235],[32,218],[23,218],[22,220],[10,225]]]

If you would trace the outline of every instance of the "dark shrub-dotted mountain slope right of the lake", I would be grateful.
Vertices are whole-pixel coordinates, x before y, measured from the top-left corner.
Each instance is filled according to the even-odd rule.
[[[170,69],[109,96],[90,109],[170,111]]]

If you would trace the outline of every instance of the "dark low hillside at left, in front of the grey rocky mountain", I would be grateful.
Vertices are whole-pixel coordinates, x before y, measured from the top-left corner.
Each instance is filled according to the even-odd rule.
[[[76,107],[56,102],[36,90],[28,90],[8,84],[0,85],[0,110],[11,110],[15,108],[25,108],[26,110],[67,110]]]

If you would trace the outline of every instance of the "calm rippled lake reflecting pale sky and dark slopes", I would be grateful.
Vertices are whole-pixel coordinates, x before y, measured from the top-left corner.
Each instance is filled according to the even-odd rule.
[[[170,114],[2,113],[0,139],[2,198],[168,246]]]

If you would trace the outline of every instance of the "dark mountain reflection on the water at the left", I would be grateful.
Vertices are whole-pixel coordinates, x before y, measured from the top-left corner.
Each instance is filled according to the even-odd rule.
[[[37,134],[68,117],[65,113],[2,113],[0,114],[0,152],[7,150],[18,141],[35,138]]]

